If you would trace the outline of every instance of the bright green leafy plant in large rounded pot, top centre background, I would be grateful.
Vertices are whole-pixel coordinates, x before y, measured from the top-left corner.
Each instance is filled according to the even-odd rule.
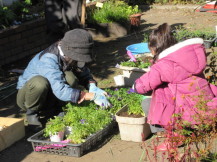
[[[139,13],[138,6],[123,1],[106,1],[102,8],[87,13],[87,26],[96,28],[103,35],[124,36],[130,31],[130,15]]]

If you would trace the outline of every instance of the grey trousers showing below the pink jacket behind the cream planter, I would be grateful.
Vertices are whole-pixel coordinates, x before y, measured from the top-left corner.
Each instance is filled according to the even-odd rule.
[[[148,116],[148,113],[149,113],[150,103],[151,103],[151,98],[145,98],[142,101],[142,109],[146,116]],[[150,129],[152,133],[164,131],[164,128],[162,128],[160,125],[151,125],[151,124],[149,125],[150,125]]]

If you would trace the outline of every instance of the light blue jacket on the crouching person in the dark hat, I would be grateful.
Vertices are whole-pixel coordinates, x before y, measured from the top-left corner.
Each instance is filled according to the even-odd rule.
[[[43,52],[43,51],[42,51]],[[21,89],[32,77],[40,75],[48,79],[53,94],[62,101],[77,103],[80,90],[71,88],[64,78],[63,63],[60,55],[54,53],[38,53],[28,64],[24,73],[19,77],[17,89]],[[88,68],[80,73],[75,73],[81,85],[88,89],[88,81],[93,80]]]

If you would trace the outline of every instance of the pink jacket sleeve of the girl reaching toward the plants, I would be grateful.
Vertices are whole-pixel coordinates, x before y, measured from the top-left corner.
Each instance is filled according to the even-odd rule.
[[[135,81],[135,91],[139,94],[145,94],[166,82],[171,82],[173,77],[172,66],[168,62],[159,62],[152,65],[149,72]]]

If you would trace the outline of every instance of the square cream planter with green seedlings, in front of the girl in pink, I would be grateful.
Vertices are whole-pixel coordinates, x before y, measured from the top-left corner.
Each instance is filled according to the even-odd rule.
[[[146,123],[146,116],[141,107],[144,96],[134,93],[129,88],[120,88],[113,92],[108,91],[108,93],[110,95],[109,100],[113,104],[113,112],[115,112],[121,139],[141,142],[148,137],[150,128]]]

